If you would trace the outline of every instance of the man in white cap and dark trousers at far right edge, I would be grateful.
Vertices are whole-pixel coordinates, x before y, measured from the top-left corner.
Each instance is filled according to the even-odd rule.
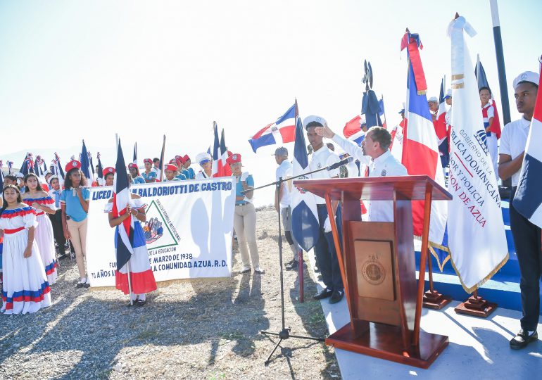
[[[519,214],[512,201],[519,182],[527,136],[531,127],[539,75],[536,72],[522,72],[513,82],[517,111],[522,118],[509,122],[500,135],[498,172],[501,179],[512,177],[510,194],[510,229],[514,238],[517,262],[521,272],[519,289],[522,293],[521,331],[510,341],[510,348],[524,348],[538,339],[536,327],[540,312],[540,279],[542,272],[541,229]]]

